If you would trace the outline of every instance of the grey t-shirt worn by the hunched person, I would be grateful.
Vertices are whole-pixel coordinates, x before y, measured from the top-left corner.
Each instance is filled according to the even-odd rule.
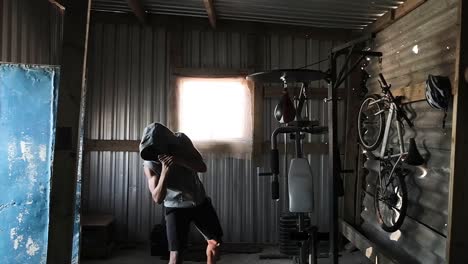
[[[189,140],[182,133],[176,133],[182,140]],[[145,160],[143,166],[152,170],[158,176],[161,175],[160,162]],[[206,199],[205,188],[198,173],[183,166],[174,165],[171,173],[166,177],[167,193],[164,198],[165,207],[187,208],[202,204]]]

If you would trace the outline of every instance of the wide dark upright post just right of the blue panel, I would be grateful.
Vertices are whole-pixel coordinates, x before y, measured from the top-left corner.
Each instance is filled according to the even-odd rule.
[[[75,208],[76,187],[77,180],[81,177],[86,61],[91,17],[91,0],[64,0],[61,4],[65,6],[65,12],[56,126],[68,127],[73,133],[68,138],[72,145],[64,149],[56,145],[53,153],[48,264],[71,263],[74,252],[73,231],[75,213],[78,213]]]

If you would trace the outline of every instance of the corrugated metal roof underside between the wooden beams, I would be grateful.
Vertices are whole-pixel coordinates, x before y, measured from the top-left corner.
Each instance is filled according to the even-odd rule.
[[[207,17],[203,0],[141,0],[147,13]],[[214,0],[219,20],[364,29],[404,0]],[[93,10],[132,12],[127,0],[93,0]]]

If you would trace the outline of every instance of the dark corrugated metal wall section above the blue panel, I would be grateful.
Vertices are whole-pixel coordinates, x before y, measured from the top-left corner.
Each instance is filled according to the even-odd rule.
[[[59,64],[62,14],[48,1],[0,0],[0,61]]]

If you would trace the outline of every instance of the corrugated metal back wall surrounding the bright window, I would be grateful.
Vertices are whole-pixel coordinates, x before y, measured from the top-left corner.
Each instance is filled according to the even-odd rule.
[[[166,123],[174,66],[169,57],[174,47],[180,49],[178,67],[260,70],[298,67],[324,59],[332,45],[332,41],[254,35],[242,30],[170,31],[162,26],[97,21],[91,28],[86,137],[135,140],[148,123]],[[325,70],[327,66],[322,63],[316,67]],[[325,83],[320,85],[325,87]],[[272,116],[276,100],[265,99],[264,103],[264,135],[268,140],[277,126]],[[321,98],[309,106],[311,115],[326,124]],[[271,201],[270,179],[256,176],[257,168],[249,157],[205,154],[204,158],[208,172],[201,178],[220,216],[225,240],[275,242],[279,214],[287,210],[287,200],[278,204]],[[313,155],[310,159],[314,173],[326,176],[327,157]],[[265,170],[269,169],[267,160],[265,157]],[[151,201],[138,153],[91,152],[85,158],[84,168],[84,211],[114,214],[120,240],[147,241],[152,225],[161,220],[161,212]],[[327,179],[317,177],[317,191],[327,186]],[[282,197],[287,197],[284,184],[282,188]],[[326,193],[320,196],[324,199]],[[328,228],[327,202],[322,200],[319,208],[322,231]]]

